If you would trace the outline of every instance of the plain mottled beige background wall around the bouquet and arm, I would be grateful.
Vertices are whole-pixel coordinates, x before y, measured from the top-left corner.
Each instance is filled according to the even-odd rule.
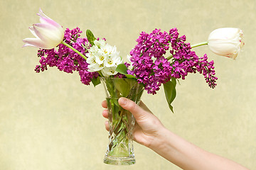
[[[163,89],[142,100],[167,128],[202,147],[256,169],[255,0],[201,1],[0,1],[0,170],[179,169],[150,149],[134,144],[137,164],[102,163],[107,131],[102,118],[102,86],[84,86],[78,74],[56,68],[36,74],[36,48],[21,48],[33,37],[38,9],[63,25],[90,29],[107,38],[124,57],[139,33],[177,27],[191,44],[205,41],[215,28],[244,30],[237,60],[196,49],[215,61],[218,86],[208,88],[201,74],[177,86],[176,113]],[[83,34],[85,36],[85,34]]]

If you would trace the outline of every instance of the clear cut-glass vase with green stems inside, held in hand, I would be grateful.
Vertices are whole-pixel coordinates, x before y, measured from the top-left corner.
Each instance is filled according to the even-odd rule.
[[[135,119],[129,111],[118,104],[120,97],[129,98],[139,103],[144,87],[135,79],[106,78],[100,79],[107,95],[109,111],[109,145],[105,154],[105,164],[129,165],[135,164],[132,144],[132,130]]]

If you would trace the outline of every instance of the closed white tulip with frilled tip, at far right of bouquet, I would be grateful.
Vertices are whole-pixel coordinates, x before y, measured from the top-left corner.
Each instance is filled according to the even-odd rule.
[[[208,37],[208,45],[212,52],[234,60],[244,44],[242,30],[239,28],[218,28],[213,30]]]

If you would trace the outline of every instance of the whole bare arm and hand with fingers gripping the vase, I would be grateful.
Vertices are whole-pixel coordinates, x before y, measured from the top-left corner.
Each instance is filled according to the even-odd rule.
[[[245,167],[229,159],[206,152],[196,145],[183,140],[170,130],[167,130],[161,121],[140,103],[136,105],[127,98],[120,98],[122,108],[130,111],[137,121],[134,128],[134,140],[158,153],[173,164],[184,170],[246,170]],[[102,103],[107,108],[105,101]],[[103,111],[107,118],[107,111]],[[108,124],[106,123],[108,130]]]

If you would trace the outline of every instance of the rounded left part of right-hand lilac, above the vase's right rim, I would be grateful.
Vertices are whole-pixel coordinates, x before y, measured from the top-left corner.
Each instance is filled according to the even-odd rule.
[[[138,44],[130,52],[131,73],[135,74],[139,83],[145,85],[149,94],[156,94],[161,84],[171,79],[171,64],[163,56],[169,50],[170,40],[171,36],[160,29],[150,34],[142,32],[137,39]]]

